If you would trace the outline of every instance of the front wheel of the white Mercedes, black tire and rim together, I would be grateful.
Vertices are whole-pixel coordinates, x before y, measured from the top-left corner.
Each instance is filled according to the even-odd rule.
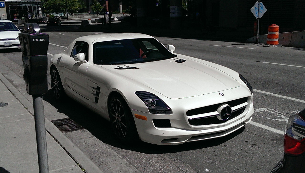
[[[110,125],[119,142],[132,143],[138,141],[138,132],[131,110],[124,98],[113,95],[108,104]]]

